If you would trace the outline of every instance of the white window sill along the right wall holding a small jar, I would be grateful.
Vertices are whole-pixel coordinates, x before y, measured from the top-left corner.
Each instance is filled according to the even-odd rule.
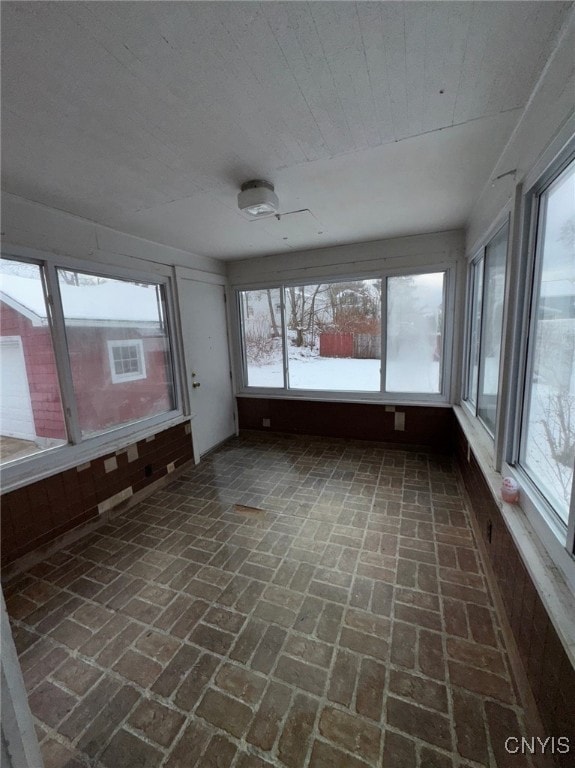
[[[468,440],[493,499],[549,618],[575,666],[575,562],[561,548],[561,563],[549,552],[519,504],[506,504],[500,497],[502,475],[493,466],[493,444],[479,424],[474,424],[461,406],[453,406],[457,421]],[[559,542],[557,542],[559,544]],[[565,572],[565,573],[564,573]]]

